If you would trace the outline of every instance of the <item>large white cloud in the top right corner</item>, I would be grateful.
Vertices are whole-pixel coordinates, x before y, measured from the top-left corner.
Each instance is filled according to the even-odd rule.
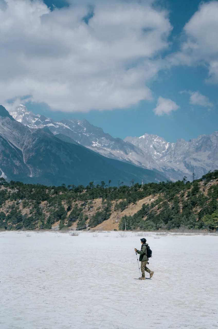
[[[211,83],[218,82],[218,1],[201,3],[184,26],[181,51],[169,56],[172,64],[206,65]]]

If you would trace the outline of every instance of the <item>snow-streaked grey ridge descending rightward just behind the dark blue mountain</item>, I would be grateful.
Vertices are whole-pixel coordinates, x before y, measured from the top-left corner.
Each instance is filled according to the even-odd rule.
[[[121,138],[113,138],[111,135],[105,134],[103,129],[93,126],[85,119],[54,121],[51,118],[46,118],[44,115],[35,115],[23,105],[17,107],[10,114],[15,120],[29,128],[43,128],[47,126],[54,135],[66,135],[81,145],[108,158],[130,162],[147,169],[161,170],[152,157],[149,155],[145,156],[139,147],[128,141],[125,142]]]

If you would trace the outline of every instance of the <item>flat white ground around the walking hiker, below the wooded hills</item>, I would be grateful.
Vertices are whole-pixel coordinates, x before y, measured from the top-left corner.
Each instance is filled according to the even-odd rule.
[[[117,236],[0,232],[0,328],[218,327],[218,236],[145,234],[144,281],[140,237]]]

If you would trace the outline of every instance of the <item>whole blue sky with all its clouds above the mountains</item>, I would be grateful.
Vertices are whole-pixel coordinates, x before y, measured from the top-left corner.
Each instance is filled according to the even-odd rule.
[[[0,104],[113,137],[218,130],[218,1],[0,0]]]

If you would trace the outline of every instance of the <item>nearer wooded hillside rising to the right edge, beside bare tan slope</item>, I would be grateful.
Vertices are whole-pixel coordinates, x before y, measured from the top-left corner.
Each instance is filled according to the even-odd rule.
[[[158,198],[149,204],[144,204],[133,216],[121,218],[120,230],[141,229],[152,231],[158,229],[208,229],[218,230],[218,185],[209,187],[207,195],[204,191],[208,182],[218,178],[218,170],[209,172],[192,184],[185,182],[176,184],[179,190],[174,196],[175,188],[170,193],[160,191]],[[204,181],[203,191],[200,182]],[[144,218],[146,217],[146,220]]]

